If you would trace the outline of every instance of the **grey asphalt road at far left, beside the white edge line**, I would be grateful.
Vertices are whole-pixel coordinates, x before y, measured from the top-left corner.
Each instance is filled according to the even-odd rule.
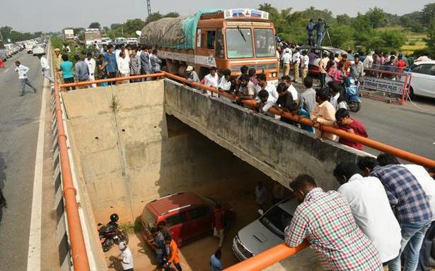
[[[28,66],[28,88],[19,97],[16,60]],[[0,224],[1,270],[26,270],[43,80],[37,57],[20,52],[0,69],[0,186],[8,203]]]

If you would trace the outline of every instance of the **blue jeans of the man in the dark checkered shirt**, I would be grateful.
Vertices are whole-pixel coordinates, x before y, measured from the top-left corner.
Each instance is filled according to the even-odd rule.
[[[415,224],[399,223],[402,231],[402,241],[400,243],[400,253],[388,263],[389,271],[400,271],[400,255],[403,255],[405,263],[404,271],[415,271],[419,262],[419,252],[422,248],[424,234],[426,234],[431,222]]]

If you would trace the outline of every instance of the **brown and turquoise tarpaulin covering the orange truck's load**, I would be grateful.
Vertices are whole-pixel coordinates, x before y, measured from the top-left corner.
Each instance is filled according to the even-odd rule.
[[[199,18],[204,13],[215,13],[221,9],[204,9],[193,16],[163,18],[145,25],[139,42],[150,46],[175,49],[194,49]]]

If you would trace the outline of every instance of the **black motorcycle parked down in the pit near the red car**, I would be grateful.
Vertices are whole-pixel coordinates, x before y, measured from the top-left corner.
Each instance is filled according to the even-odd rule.
[[[103,252],[109,251],[112,248],[113,244],[120,243],[124,241],[124,243],[129,243],[129,236],[127,231],[124,228],[118,226],[115,221],[111,221],[106,225],[101,223],[98,224],[98,236],[100,236],[101,247],[103,248]]]

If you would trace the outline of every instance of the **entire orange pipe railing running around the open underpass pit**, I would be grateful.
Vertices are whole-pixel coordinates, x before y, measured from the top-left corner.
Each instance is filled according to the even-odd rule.
[[[84,82],[79,82],[79,83],[68,83],[68,84],[60,84],[57,85],[57,83],[55,83],[54,88],[56,90],[56,102],[59,101],[59,88],[69,88],[69,87],[74,87],[74,86],[83,86],[83,85],[91,85],[91,84],[98,84],[98,83],[105,83],[105,82],[117,82],[117,81],[124,81],[124,80],[134,80],[134,79],[141,79],[141,78],[159,78],[159,77],[165,77],[165,78],[171,78],[173,80],[177,80],[179,82],[182,82],[184,84],[187,85],[192,85],[193,87],[196,88],[201,88],[202,90],[209,90],[211,92],[215,92],[218,93],[221,96],[225,96],[228,97],[232,100],[236,100],[235,97],[227,92],[221,91],[221,90],[217,90],[216,88],[212,88],[209,87],[207,85],[202,85],[201,83],[195,83],[195,82],[189,82],[186,78],[182,78],[180,76],[175,76],[172,73],[167,73],[167,72],[161,72],[161,73],[153,73],[153,74],[149,74],[149,75],[141,75],[141,76],[129,76],[129,77],[123,77],[123,78],[110,78],[110,79],[103,79],[103,80],[95,80],[95,81],[84,81]],[[74,90],[72,90],[74,91]],[[251,107],[255,107],[255,104],[257,102],[255,102],[255,100],[241,100],[241,102],[243,102],[243,104],[248,104]],[[57,104],[56,104],[57,106]],[[60,102],[59,102],[59,110],[60,109]],[[284,116],[284,118],[286,119],[291,119],[293,121],[296,121],[300,124],[305,124],[308,126],[314,126],[314,122],[311,121],[311,119],[306,119],[304,117],[301,116],[293,116],[289,113],[286,112],[278,112],[277,109],[271,108],[269,109],[269,113],[272,114],[277,114],[279,116]],[[58,112],[57,112],[58,114]],[[59,116],[60,117],[60,121],[62,123],[62,111],[60,111]],[[420,155],[415,155],[412,152],[407,152],[406,150],[401,150],[398,147],[393,147],[384,143],[380,143],[376,140],[372,140],[370,138],[364,138],[360,135],[355,135],[352,133],[347,133],[346,131],[340,130],[338,128],[332,127],[332,126],[320,126],[320,130],[327,132],[327,133],[332,133],[334,135],[338,135],[342,138],[346,138],[348,140],[352,140],[356,143],[361,143],[362,145],[366,145],[367,147],[371,147],[375,150],[379,150],[381,152],[388,152],[392,155],[395,155],[397,157],[400,157],[402,159],[407,160],[408,162],[412,162],[414,164],[421,164],[424,167],[435,167],[435,160],[429,159],[427,157],[423,157]],[[62,139],[64,141],[64,146],[66,146],[66,138],[65,135],[63,133],[63,126],[62,126],[62,131],[59,131],[59,147],[60,147],[60,141],[61,141],[61,135],[63,135]],[[62,150],[62,149],[61,149]],[[61,152],[62,153],[62,152]],[[71,181],[71,170],[69,169],[69,160],[68,160],[68,156],[66,154],[66,160],[64,158],[64,162],[68,161],[68,167],[67,167],[67,171],[65,171],[66,174],[69,174],[69,181]],[[61,156],[61,162],[62,162],[62,156]],[[62,163],[62,169],[64,169],[64,164]],[[66,167],[66,165],[65,165]],[[64,174],[64,171],[62,170],[62,174]],[[64,181],[65,183],[65,181]],[[76,202],[75,202],[75,189],[74,187],[72,187],[72,182],[68,183],[69,186],[65,186],[66,188],[68,188],[67,191],[65,191],[66,188],[64,188],[65,192],[68,192],[69,195],[69,200],[66,199],[65,197],[65,192],[64,192],[64,197],[66,202],[70,202],[70,209],[67,207],[66,211],[68,214],[68,217],[70,217],[69,212],[75,212],[76,215],[74,215],[74,219],[79,219],[78,215],[79,213],[77,212],[77,206],[76,206]],[[72,193],[74,192],[74,193]],[[72,201],[74,200],[74,202]],[[72,205],[71,205],[72,203]],[[74,209],[75,208],[75,209]],[[71,223],[72,223],[73,218],[71,218]],[[76,220],[74,220],[76,221]],[[80,220],[78,220],[78,222],[80,223]],[[68,224],[70,227],[70,219],[68,219]],[[80,227],[81,229],[81,227]],[[79,268],[79,265],[76,265],[77,269],[76,270],[88,270],[88,265],[87,265],[87,256],[86,256],[86,248],[84,247],[84,241],[83,241],[83,234],[79,233],[74,233],[75,237],[74,239],[71,238],[71,248],[73,247],[73,242],[76,242],[75,250],[72,251],[72,255],[73,255],[73,260],[76,259],[77,264],[79,264],[79,262],[83,262],[86,261],[86,264],[81,263],[82,265],[81,268]],[[74,240],[74,241],[73,241]],[[269,266],[269,265],[273,265],[274,263],[278,263],[281,260],[284,260],[285,258],[288,258],[291,255],[294,255],[296,253],[298,253],[298,251],[303,250],[304,248],[306,248],[308,246],[308,243],[304,242],[301,244],[301,246],[298,246],[297,248],[290,248],[289,246],[286,246],[286,244],[281,243],[277,246],[274,246],[273,248],[269,248],[267,251],[264,251],[258,255],[255,255],[253,258],[250,258],[248,260],[245,260],[243,262],[240,262],[236,265],[233,265],[232,267],[228,267],[226,269],[226,271],[260,271],[263,268]],[[84,251],[82,250],[84,249]],[[83,257],[83,253],[84,256]],[[74,262],[75,263],[75,262]],[[87,265],[87,267],[86,267]]]

